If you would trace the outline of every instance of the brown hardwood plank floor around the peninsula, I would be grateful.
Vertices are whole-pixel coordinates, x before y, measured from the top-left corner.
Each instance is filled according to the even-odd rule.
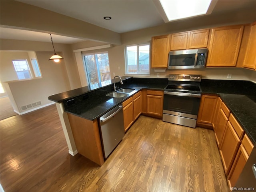
[[[68,154],[55,105],[0,126],[5,192],[229,191],[212,130],[140,116],[99,167]]]

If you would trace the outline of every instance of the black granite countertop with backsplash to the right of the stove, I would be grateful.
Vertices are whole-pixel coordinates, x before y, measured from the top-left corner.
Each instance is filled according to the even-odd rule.
[[[256,143],[256,84],[238,80],[202,80],[203,94],[218,94],[240,123],[253,144]]]

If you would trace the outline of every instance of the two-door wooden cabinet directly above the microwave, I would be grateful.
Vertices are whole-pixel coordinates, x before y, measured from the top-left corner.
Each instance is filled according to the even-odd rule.
[[[209,29],[170,34],[170,50],[206,48]]]

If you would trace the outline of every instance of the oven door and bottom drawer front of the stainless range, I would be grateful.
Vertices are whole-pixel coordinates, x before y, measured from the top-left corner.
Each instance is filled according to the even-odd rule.
[[[201,94],[164,92],[163,121],[196,127]]]

